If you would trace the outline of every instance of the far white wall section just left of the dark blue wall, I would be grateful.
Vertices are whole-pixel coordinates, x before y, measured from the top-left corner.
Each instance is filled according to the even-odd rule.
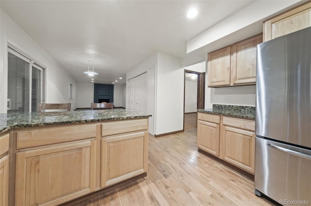
[[[94,83],[77,83],[77,108],[91,108],[94,102]]]

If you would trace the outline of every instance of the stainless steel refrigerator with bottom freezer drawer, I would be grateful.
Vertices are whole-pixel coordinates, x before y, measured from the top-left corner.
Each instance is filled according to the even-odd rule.
[[[311,27],[257,46],[255,193],[311,205]]]

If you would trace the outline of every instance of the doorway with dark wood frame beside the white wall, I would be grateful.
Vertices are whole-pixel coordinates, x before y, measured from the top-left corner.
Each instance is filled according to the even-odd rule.
[[[184,128],[196,128],[196,109],[205,105],[205,72],[185,69],[184,72]]]

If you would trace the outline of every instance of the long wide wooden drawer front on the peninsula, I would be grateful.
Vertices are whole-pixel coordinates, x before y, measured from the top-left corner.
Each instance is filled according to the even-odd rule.
[[[96,124],[17,132],[17,149],[96,137]]]

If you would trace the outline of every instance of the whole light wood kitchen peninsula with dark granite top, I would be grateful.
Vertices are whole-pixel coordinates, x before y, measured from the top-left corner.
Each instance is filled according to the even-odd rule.
[[[59,205],[146,176],[148,117],[125,109],[0,114],[2,204]]]

